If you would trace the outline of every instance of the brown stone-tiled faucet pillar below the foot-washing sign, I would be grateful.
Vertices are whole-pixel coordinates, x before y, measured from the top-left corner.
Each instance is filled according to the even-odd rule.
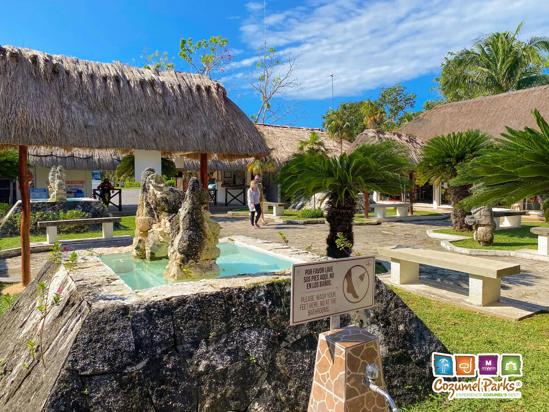
[[[357,326],[321,333],[307,412],[385,412],[385,398],[362,383],[369,363],[379,366],[375,383],[386,390],[377,336]]]

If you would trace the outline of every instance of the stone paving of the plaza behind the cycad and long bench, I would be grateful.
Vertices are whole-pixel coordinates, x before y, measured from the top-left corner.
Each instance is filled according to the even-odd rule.
[[[328,225],[289,225],[273,224],[252,229],[249,219],[227,216],[223,212],[212,214],[212,219],[221,225],[220,237],[245,235],[281,242],[278,231],[289,240],[289,246],[305,249],[312,245],[311,252],[326,254]],[[355,250],[362,254],[377,254],[377,248],[402,244],[425,249],[444,250],[440,240],[427,236],[427,229],[450,227],[450,220],[423,220],[408,223],[385,222],[377,226],[355,226]],[[501,281],[501,295],[525,302],[549,307],[549,263],[514,257],[484,257],[486,259],[520,264],[518,275],[507,276]],[[463,272],[419,265],[420,278],[450,283],[452,286],[467,288],[469,277]]]

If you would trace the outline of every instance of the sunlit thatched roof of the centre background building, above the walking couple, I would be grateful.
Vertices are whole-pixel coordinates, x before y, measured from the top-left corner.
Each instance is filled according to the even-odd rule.
[[[271,156],[275,159],[277,169],[287,162],[292,155],[297,151],[300,140],[307,140],[311,132],[317,132],[328,149],[328,154],[339,154],[339,142],[329,138],[322,129],[310,129],[309,127],[292,127],[292,126],[277,126],[255,124],[255,127],[262,136],[265,137],[267,146],[272,148]],[[343,151],[351,146],[348,141],[343,141]],[[222,161],[214,157],[208,161],[208,170],[244,170],[248,162],[253,162],[253,159],[241,159],[234,162]],[[198,162],[186,160],[183,168],[179,170],[199,170]]]

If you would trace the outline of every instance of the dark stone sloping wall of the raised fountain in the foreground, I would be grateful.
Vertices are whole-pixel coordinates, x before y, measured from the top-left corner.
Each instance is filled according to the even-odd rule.
[[[25,344],[40,321],[36,279],[0,319],[1,410],[306,410],[318,334],[329,325],[289,326],[288,276],[134,292],[97,257],[79,260],[53,281],[63,299],[44,328],[46,371]],[[375,296],[372,310],[341,322],[379,336],[389,393],[414,402],[433,380],[430,353],[446,349],[377,278]]]

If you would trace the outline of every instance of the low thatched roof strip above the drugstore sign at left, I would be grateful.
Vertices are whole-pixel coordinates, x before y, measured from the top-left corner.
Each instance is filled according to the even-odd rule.
[[[109,149],[72,149],[69,153],[59,148],[30,147],[29,163],[33,166],[61,165],[67,170],[115,170],[122,155]]]

